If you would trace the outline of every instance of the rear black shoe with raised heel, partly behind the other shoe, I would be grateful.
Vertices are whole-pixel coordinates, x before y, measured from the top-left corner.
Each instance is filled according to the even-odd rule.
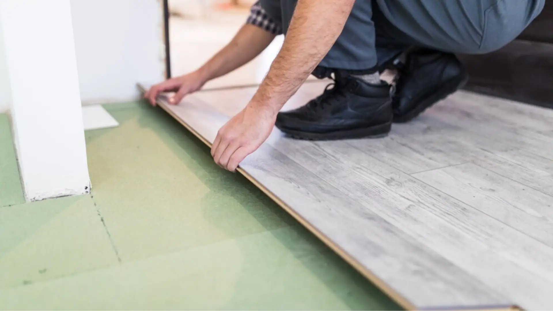
[[[451,53],[422,49],[406,57],[392,99],[394,122],[413,120],[434,103],[463,87],[468,75]]]

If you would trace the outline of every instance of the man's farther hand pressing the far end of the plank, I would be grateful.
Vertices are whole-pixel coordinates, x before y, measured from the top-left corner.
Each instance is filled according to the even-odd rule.
[[[174,77],[150,87],[144,94],[144,98],[149,99],[150,103],[155,106],[155,97],[158,96],[159,92],[176,92],[169,99],[171,105],[176,105],[184,96],[200,90],[206,82],[199,71],[190,72],[190,74]]]

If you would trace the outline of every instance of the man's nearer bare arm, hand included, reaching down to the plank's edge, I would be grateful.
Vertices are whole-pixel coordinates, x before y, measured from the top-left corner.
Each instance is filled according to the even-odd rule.
[[[234,172],[267,140],[276,114],[336,42],[355,0],[299,0],[283,47],[248,105],[217,133],[211,155]]]

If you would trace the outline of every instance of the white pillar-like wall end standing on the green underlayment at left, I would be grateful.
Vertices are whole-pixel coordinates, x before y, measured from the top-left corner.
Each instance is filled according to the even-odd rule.
[[[25,198],[90,191],[69,0],[0,1]]]

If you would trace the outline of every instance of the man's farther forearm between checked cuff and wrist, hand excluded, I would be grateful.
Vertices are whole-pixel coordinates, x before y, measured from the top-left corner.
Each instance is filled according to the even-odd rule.
[[[198,71],[211,80],[228,74],[259,55],[273,41],[275,35],[250,24],[244,24],[225,48],[221,49]]]

